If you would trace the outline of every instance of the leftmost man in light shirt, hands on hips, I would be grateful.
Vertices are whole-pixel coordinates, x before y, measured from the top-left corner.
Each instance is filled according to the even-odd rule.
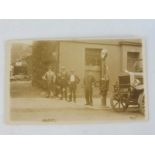
[[[45,73],[45,75],[42,78],[47,83],[47,97],[50,97],[51,95],[53,96],[56,75],[52,71],[52,67],[51,66],[48,67],[48,71]]]

